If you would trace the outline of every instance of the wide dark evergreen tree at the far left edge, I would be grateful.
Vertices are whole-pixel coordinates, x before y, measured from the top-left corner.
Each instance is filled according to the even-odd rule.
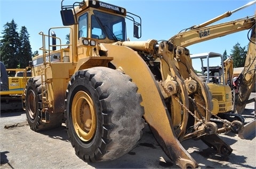
[[[17,24],[12,20],[4,25],[3,37],[0,40],[0,58],[6,69],[18,68],[19,60],[19,33]]]

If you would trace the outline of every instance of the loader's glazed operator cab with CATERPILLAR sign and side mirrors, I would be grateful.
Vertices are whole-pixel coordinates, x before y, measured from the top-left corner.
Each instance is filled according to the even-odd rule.
[[[64,26],[77,24],[77,39],[93,38],[102,43],[126,41],[125,18],[133,21],[134,37],[141,37],[141,19],[139,16],[126,12],[123,7],[100,1],[83,1],[73,6],[64,6],[61,2],[61,18]],[[73,12],[75,11],[75,12]],[[133,17],[137,17],[136,22]]]

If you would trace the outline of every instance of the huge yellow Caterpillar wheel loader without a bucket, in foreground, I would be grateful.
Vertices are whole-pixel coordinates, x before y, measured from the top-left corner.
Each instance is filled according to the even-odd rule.
[[[136,38],[141,19],[116,5],[61,1],[60,13],[64,27],[39,33],[43,54],[30,62],[33,75],[22,103],[31,130],[65,120],[71,145],[85,162],[128,153],[145,121],[181,168],[198,167],[180,143],[186,139],[201,139],[223,156],[232,152],[218,134],[237,125],[210,122],[212,94],[195,73],[188,48],[171,40],[127,41],[125,19],[133,22]],[[59,29],[70,30],[70,44],[61,44]]]

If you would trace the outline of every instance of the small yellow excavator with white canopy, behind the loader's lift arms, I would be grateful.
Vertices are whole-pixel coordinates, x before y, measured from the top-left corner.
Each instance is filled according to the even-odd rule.
[[[205,78],[210,91],[212,92],[213,110],[216,115],[219,113],[230,113],[233,111],[233,98],[231,86],[227,85],[223,57],[219,53],[207,52],[190,55],[193,65],[198,60],[201,62],[201,77]],[[214,66],[215,63],[215,66]],[[219,64],[221,64],[219,66]]]

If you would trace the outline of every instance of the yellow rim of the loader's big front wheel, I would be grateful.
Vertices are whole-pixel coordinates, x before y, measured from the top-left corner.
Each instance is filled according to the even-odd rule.
[[[72,122],[77,136],[82,141],[90,141],[95,134],[97,120],[91,97],[84,91],[78,91],[72,102]]]

